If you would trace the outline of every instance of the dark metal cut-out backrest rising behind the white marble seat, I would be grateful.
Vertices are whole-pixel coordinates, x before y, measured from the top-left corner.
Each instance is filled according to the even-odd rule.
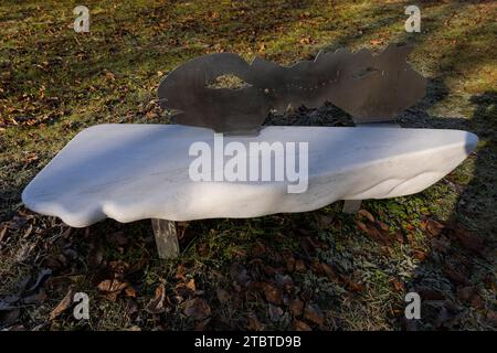
[[[406,63],[408,46],[389,45],[379,55],[363,49],[320,52],[293,66],[237,54],[193,58],[159,85],[162,107],[180,110],[175,121],[229,135],[255,135],[272,109],[288,105],[318,107],[326,100],[349,113],[356,122],[393,120],[424,96],[425,78]],[[235,75],[240,89],[211,88],[222,75]]]

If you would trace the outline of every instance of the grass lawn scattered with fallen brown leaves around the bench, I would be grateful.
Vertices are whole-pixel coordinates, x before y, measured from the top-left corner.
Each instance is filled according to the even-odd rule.
[[[419,1],[74,1],[0,4],[0,329],[493,330],[497,328],[497,3]],[[180,224],[179,259],[160,261],[149,221],[70,228],[20,195],[95,124],[168,124],[160,78],[207,53],[282,64],[319,50],[410,43],[429,78],[403,127],[475,132],[478,149],[422,193],[315,212]],[[325,105],[267,124],[350,125]],[[91,319],[63,299],[84,291]],[[404,296],[422,318],[405,321]]]

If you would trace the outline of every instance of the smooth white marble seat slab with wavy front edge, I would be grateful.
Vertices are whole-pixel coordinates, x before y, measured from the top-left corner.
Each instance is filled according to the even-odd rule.
[[[477,137],[458,130],[378,127],[265,127],[224,142],[308,142],[308,189],[287,182],[193,182],[189,147],[209,129],[179,125],[98,125],[80,132],[25,188],[24,204],[74,227],[110,217],[191,221],[305,212],[337,200],[383,199],[432,185],[470,153]]]

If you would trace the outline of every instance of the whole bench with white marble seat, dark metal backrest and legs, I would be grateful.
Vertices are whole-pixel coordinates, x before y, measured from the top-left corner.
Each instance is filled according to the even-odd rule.
[[[394,127],[395,117],[421,99],[426,87],[426,79],[405,61],[410,51],[393,44],[378,55],[368,50],[320,52],[292,66],[261,58],[247,63],[233,53],[193,58],[170,72],[158,88],[160,105],[175,110],[173,121],[180,125],[85,129],[33,179],[22,200],[29,208],[74,227],[106,217],[152,218],[159,256],[170,258],[179,250],[175,221],[306,212],[337,200],[346,200],[343,211],[353,212],[363,199],[420,192],[456,168],[475,149],[477,137]],[[244,85],[219,87],[216,81],[224,75]],[[325,101],[349,113],[358,126],[261,127],[269,111]],[[255,142],[297,145],[303,150],[275,149],[268,154],[274,156],[275,170],[266,179],[233,181],[214,172],[213,179],[199,181],[189,173],[194,162],[190,147],[204,142],[215,150],[214,131],[237,135],[223,142],[242,150]],[[221,162],[213,164],[221,170],[223,147],[221,159],[214,158]],[[246,162],[258,163],[257,156]],[[308,167],[297,186],[292,178],[276,178],[284,168],[292,174],[286,165],[294,161]]]

